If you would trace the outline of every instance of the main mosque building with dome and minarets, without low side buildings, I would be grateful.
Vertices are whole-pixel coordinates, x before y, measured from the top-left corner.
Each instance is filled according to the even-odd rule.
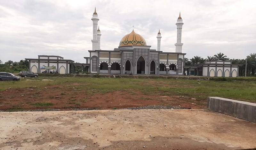
[[[183,75],[184,56],[182,53],[181,32],[182,18],[177,20],[177,43],[175,52],[161,51],[161,33],[157,33],[157,50],[150,49],[146,40],[134,30],[126,34],[114,50],[100,49],[100,29],[98,28],[98,14],[95,11],[92,15],[93,39],[92,50],[89,50],[90,57],[88,72],[98,74],[167,74]]]

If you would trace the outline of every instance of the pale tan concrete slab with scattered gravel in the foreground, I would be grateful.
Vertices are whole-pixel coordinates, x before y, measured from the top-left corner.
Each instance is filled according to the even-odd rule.
[[[0,124],[1,150],[256,147],[255,123],[207,110],[1,112]]]

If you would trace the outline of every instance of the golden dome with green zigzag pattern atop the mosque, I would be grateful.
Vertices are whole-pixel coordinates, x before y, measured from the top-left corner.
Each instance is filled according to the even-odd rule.
[[[130,34],[126,34],[120,41],[119,46],[147,46],[145,39],[133,30]]]

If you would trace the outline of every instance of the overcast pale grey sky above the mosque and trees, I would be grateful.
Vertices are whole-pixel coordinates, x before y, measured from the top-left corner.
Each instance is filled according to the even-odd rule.
[[[181,12],[185,57],[256,53],[256,0],[0,0],[0,60],[60,55],[85,63],[95,6],[102,50],[117,48],[134,25],[151,49],[160,28],[161,51],[175,52]]]

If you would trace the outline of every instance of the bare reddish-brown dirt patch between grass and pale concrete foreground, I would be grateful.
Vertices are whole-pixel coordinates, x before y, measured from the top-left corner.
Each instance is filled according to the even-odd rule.
[[[146,95],[127,89],[102,93],[97,89],[79,89],[78,83],[60,84],[43,88],[30,87],[7,89],[0,92],[0,110],[22,108],[25,110],[73,108],[119,109],[147,105],[170,105],[192,109],[205,108],[201,101],[186,96],[161,96],[159,93]],[[196,101],[196,102],[195,102]],[[35,106],[36,103],[51,102],[52,106]]]

